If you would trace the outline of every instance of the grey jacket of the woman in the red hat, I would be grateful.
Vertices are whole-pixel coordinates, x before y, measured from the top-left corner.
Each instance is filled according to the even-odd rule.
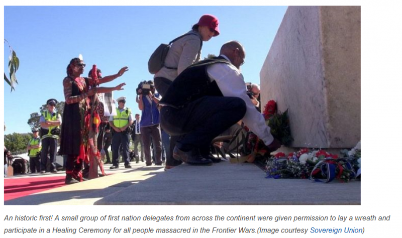
[[[166,55],[165,65],[177,69],[168,69],[162,67],[159,72],[154,75],[156,77],[163,77],[173,81],[185,68],[198,62],[201,58],[201,35],[195,31],[189,31],[196,35],[188,35],[178,39],[172,43],[169,52]]]

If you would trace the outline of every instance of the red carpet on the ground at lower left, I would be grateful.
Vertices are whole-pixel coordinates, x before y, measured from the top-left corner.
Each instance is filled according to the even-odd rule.
[[[64,186],[65,176],[43,176],[4,180],[4,200],[11,200]]]

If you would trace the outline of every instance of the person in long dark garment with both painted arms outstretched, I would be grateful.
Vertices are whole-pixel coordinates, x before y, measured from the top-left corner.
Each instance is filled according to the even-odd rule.
[[[85,64],[80,58],[73,58],[67,65],[67,77],[63,80],[65,105],[61,125],[60,154],[67,155],[66,184],[77,183],[82,179],[82,162],[85,158],[85,146],[88,141],[86,117],[89,114],[88,98],[95,93],[122,90],[125,83],[116,87],[92,87],[91,78],[81,77]],[[128,67],[123,67],[117,74],[99,78],[98,84],[110,82],[122,76]]]

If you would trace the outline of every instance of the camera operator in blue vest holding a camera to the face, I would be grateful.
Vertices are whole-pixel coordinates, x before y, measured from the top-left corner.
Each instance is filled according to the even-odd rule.
[[[137,99],[138,108],[141,113],[141,135],[144,145],[144,156],[146,165],[152,165],[151,159],[151,138],[155,148],[155,165],[162,165],[162,142],[159,126],[159,93],[155,92],[154,82],[149,80],[138,85]]]

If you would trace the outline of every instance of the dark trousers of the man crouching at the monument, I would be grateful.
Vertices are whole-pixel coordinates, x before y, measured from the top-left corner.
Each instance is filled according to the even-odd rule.
[[[180,150],[204,150],[245,113],[246,103],[239,97],[204,96],[182,108],[162,107],[160,121],[171,136],[183,135],[176,143]]]

